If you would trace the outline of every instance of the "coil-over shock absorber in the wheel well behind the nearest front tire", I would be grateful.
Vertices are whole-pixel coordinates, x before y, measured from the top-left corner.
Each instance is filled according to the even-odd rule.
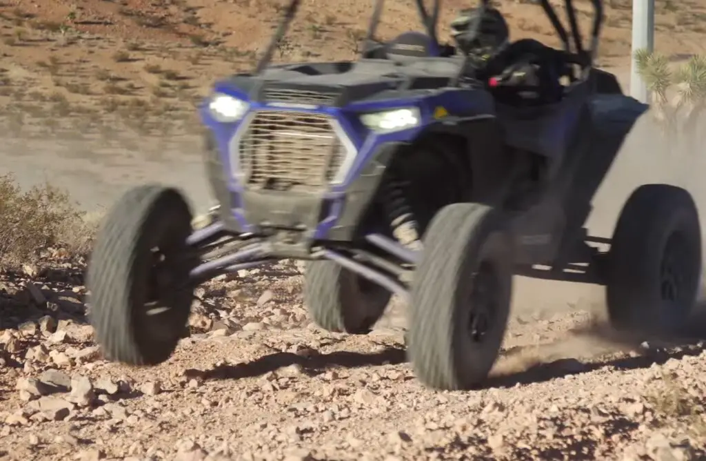
[[[421,250],[419,225],[414,219],[412,206],[407,202],[405,194],[408,184],[407,181],[391,173],[383,183],[383,204],[395,238],[412,250]]]

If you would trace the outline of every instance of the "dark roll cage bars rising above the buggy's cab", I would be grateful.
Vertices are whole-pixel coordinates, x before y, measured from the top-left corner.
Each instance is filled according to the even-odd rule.
[[[566,28],[563,26],[561,21],[559,21],[559,18],[556,14],[556,10],[554,9],[554,6],[551,6],[549,0],[539,0],[539,4],[542,6],[544,13],[549,18],[549,21],[554,27],[556,34],[561,39],[563,51],[566,52],[566,55],[570,61],[575,62],[576,64],[580,64],[580,66],[582,66],[585,75],[587,75],[588,71],[590,71],[590,69],[593,67],[598,48],[599,35],[601,32],[601,27],[603,25],[603,0],[590,1],[594,8],[594,18],[591,30],[590,43],[588,45],[588,48],[585,48],[583,43],[583,37],[578,27],[578,21],[576,19],[576,9],[573,6],[573,0],[564,0],[564,6],[566,8],[570,28],[569,32],[567,32]],[[490,2],[491,0],[480,0],[479,8],[488,8]],[[280,24],[277,26],[277,30],[275,30],[275,34],[270,40],[267,49],[265,49],[265,53],[263,54],[256,66],[256,74],[260,74],[262,71],[264,71],[265,68],[272,61],[272,57],[277,47],[277,44],[282,40],[282,37],[284,37],[285,33],[287,33],[289,24],[292,22],[292,19],[294,19],[294,16],[297,15],[297,10],[299,9],[300,4],[301,0],[291,0],[289,2],[284,16],[282,17]],[[370,18],[370,23],[366,32],[366,42],[374,40],[378,24],[380,23],[380,18],[383,13],[384,4],[385,0],[375,1],[373,14]],[[426,29],[426,33],[438,45],[439,42],[437,26],[439,11],[441,10],[441,0],[433,0],[431,11],[427,11],[426,6],[424,6],[424,0],[414,0],[414,4],[417,6],[417,13],[419,13],[419,18],[421,20],[422,25],[424,25],[424,28]],[[478,32],[477,28],[479,26],[479,23],[476,22],[474,25],[476,26],[476,30],[471,30],[470,32],[472,34]],[[571,38],[573,39],[573,43],[570,41],[569,33],[571,35]]]

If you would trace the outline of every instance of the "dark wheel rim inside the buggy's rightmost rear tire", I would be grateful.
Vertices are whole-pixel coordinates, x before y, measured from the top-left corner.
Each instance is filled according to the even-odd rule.
[[[659,296],[666,308],[666,315],[673,309],[687,310],[690,305],[690,286],[693,271],[692,256],[688,252],[686,236],[673,233],[664,245],[659,266]]]

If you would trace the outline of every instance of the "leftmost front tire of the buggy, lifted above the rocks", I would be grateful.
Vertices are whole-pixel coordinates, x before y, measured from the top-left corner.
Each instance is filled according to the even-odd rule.
[[[90,320],[107,358],[155,365],[176,349],[198,264],[186,245],[191,218],[184,197],[158,185],[131,189],[109,212],[87,276]]]

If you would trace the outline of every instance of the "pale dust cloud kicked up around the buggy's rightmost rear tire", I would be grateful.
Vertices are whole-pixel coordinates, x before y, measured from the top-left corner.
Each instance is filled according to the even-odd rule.
[[[698,133],[692,134],[698,136]],[[698,143],[696,143],[698,145]],[[694,144],[691,144],[694,145]],[[590,235],[610,237],[618,214],[633,190],[640,185],[664,183],[683,187],[693,194],[700,215],[706,216],[706,182],[702,171],[706,161],[700,151],[687,147],[684,139],[671,144],[661,127],[647,112],[635,124],[621,151],[594,197],[594,209],[587,221]],[[566,358],[583,362],[616,354],[647,354],[644,346],[669,348],[706,339],[706,294],[700,292],[700,305],[687,331],[677,337],[629,337],[612,329],[606,321],[602,286],[561,281],[541,281],[515,277],[515,315],[555,315],[587,313],[587,320],[568,329],[550,342],[511,350],[498,363],[496,375],[539,369]]]

